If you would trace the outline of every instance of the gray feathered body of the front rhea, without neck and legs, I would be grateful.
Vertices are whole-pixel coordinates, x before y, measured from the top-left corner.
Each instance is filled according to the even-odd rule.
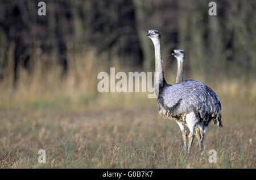
[[[206,127],[210,120],[222,127],[220,99],[200,81],[188,79],[174,85],[166,83],[159,89],[158,110],[164,118],[175,118],[181,123],[185,123],[187,114],[194,112]]]

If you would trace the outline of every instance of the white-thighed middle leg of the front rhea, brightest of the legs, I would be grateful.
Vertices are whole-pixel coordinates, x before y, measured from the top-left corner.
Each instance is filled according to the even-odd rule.
[[[193,112],[187,114],[186,119],[185,119],[187,126],[189,128],[189,135],[188,135],[188,154],[191,152],[191,145],[193,143],[193,139],[195,137],[195,129],[196,129],[196,124],[198,120],[196,119],[196,116]]]

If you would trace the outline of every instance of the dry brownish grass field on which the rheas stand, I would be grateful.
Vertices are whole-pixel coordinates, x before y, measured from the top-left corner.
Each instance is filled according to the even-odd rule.
[[[161,118],[146,93],[32,94],[2,87],[0,167],[255,168],[256,83],[209,86],[221,99],[224,128],[210,124],[205,153],[195,139],[190,156],[177,124]],[[46,150],[46,164],[38,163],[39,149]],[[208,161],[210,149],[217,151],[216,164]]]

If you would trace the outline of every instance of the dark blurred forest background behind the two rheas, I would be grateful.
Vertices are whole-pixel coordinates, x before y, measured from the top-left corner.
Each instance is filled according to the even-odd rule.
[[[167,61],[172,49],[185,49],[187,77],[255,77],[253,0],[215,1],[217,16],[208,15],[210,1],[46,0],[46,16],[38,15],[38,2],[0,2],[0,81],[14,87],[21,71],[76,73],[76,61],[86,64],[92,52],[94,68],[109,68],[115,58],[122,67],[153,71],[154,47],[145,36],[151,28],[162,33],[166,63],[174,62]]]

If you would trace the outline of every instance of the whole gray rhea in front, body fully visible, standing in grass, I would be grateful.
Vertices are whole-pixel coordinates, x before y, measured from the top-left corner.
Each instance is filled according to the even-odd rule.
[[[155,93],[158,97],[158,112],[164,118],[175,119],[179,124],[183,133],[185,149],[187,135],[184,125],[187,125],[190,131],[188,153],[191,150],[195,135],[199,137],[200,146],[203,148],[205,127],[208,127],[209,122],[213,120],[214,124],[222,127],[220,99],[210,87],[199,81],[188,79],[174,85],[168,85],[163,74],[160,33],[158,30],[148,30],[147,36],[150,37],[155,47],[154,80]],[[183,76],[179,77],[179,79],[182,78]]]

